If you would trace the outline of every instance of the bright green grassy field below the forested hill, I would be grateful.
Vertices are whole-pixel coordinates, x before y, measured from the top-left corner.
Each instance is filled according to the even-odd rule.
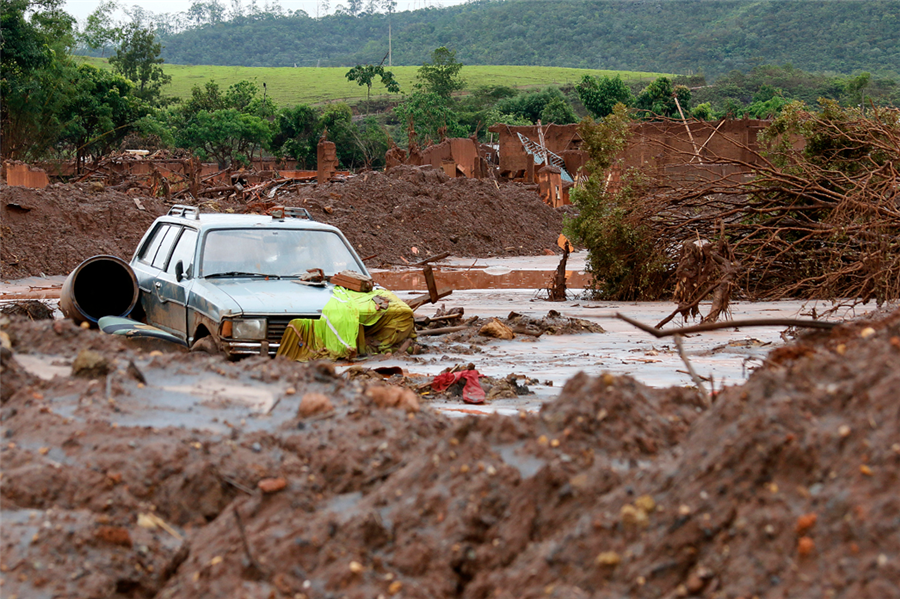
[[[79,57],[101,68],[109,68],[102,58]],[[409,93],[416,82],[416,71],[419,67],[393,67],[391,71],[400,82],[402,92]],[[279,106],[295,106],[297,104],[319,104],[336,100],[345,100],[355,104],[366,97],[365,86],[347,81],[344,76],[350,69],[340,68],[270,68],[270,67],[213,67],[185,66],[176,64],[163,65],[167,75],[172,76],[172,84],[165,87],[163,93],[176,98],[190,96],[191,88],[203,86],[214,80],[222,89],[232,83],[246,79],[255,82],[260,89],[266,84],[266,93]],[[462,70],[469,89],[481,85],[509,85],[519,88],[540,88],[547,85],[564,85],[578,83],[584,75],[621,75],[625,81],[647,81],[663,75],[663,73],[638,73],[630,71],[601,71],[591,69],[568,69],[563,67],[520,67],[520,66],[466,66]],[[372,97],[384,94],[380,83],[372,86]],[[393,96],[399,97],[399,96]]]

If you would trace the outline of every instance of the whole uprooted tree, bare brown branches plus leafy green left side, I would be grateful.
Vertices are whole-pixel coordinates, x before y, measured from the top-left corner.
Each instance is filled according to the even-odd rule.
[[[742,146],[754,160],[704,156],[686,180],[626,173],[610,193],[595,166],[574,195],[581,215],[570,233],[590,250],[596,291],[651,299],[677,285],[685,314],[723,283],[761,299],[900,297],[900,111],[819,108],[791,104],[761,135],[760,153]],[[582,125],[592,158],[590,140],[603,127]],[[682,154],[686,163],[694,157]],[[722,175],[714,168],[722,165],[749,175]],[[699,292],[676,273],[686,243],[718,256],[718,274],[707,271]]]

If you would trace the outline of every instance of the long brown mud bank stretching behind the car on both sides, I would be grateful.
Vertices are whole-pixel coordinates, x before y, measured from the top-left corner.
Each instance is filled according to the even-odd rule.
[[[417,262],[443,252],[536,255],[556,251],[562,230],[563,212],[544,204],[533,187],[450,179],[434,169],[402,166],[292,189],[269,204],[301,206],[316,220],[336,225],[361,256],[375,256],[370,264]],[[248,210],[234,200],[203,201],[200,207]],[[0,276],[68,274],[97,254],[127,260],[153,219],[168,209],[160,198],[86,184],[43,190],[2,185]]]

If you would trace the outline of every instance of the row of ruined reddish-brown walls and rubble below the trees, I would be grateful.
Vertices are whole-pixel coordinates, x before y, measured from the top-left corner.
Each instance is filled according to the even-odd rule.
[[[768,124],[753,119],[635,123],[619,160],[607,174],[606,185],[614,189],[632,168],[657,181],[741,177],[758,160],[757,134]],[[451,178],[521,182],[534,185],[552,207],[570,204],[570,190],[591,175],[578,125],[495,124],[488,131],[490,143],[480,143],[473,136],[447,138],[424,148],[412,136],[408,149],[395,146],[388,150],[385,169],[430,165]],[[286,185],[321,185],[350,175],[338,170],[336,146],[325,139],[319,142],[314,171],[298,170],[296,161],[274,158],[255,159],[249,168],[233,169],[201,163],[189,153],[161,150],[148,154],[126,150],[101,159],[80,174],[74,172],[72,163],[42,164],[40,169],[8,162],[4,171],[7,183],[13,186],[45,187],[49,174],[76,182],[100,179],[105,185],[167,200],[190,194],[195,198],[234,195],[246,201],[264,201],[273,189]],[[746,166],[719,164],[720,159]]]

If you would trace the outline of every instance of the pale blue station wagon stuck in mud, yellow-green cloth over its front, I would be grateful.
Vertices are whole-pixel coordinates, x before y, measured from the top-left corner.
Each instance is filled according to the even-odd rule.
[[[90,270],[79,275],[82,282],[76,278],[78,270],[90,268],[89,262],[70,275],[75,302],[77,286],[98,278]],[[201,214],[196,207],[177,205],[153,222],[125,266],[130,266],[139,295],[129,309],[133,318],[188,347],[218,350],[229,357],[355,355],[357,331],[360,347],[365,347],[361,325],[374,324],[395,304],[402,306],[397,310],[403,312],[404,330],[392,329],[377,342],[394,343],[412,331],[411,309],[390,292],[376,288],[368,294],[355,293],[330,282],[339,273],[362,280],[369,279],[369,273],[340,230],[315,222],[302,208],[283,208],[266,216]],[[369,304],[371,310],[364,307]],[[104,329],[101,314],[122,316],[117,313],[122,308],[93,308],[88,320],[99,321]],[[82,306],[70,309],[78,311],[85,312]],[[318,320],[327,322],[312,326]],[[279,352],[288,328],[292,333],[286,338],[297,347]],[[385,328],[383,323],[379,328]],[[337,350],[328,352],[326,337],[337,339]]]

